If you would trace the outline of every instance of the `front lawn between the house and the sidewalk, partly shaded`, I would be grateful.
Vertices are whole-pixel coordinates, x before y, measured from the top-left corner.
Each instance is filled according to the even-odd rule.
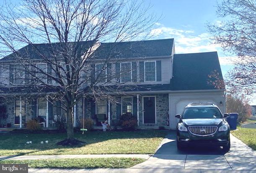
[[[65,133],[5,134],[0,137],[0,155],[154,154],[166,133],[165,130],[75,133],[75,138],[86,143],[74,148],[56,145],[66,138]],[[40,144],[45,140],[49,143]],[[26,145],[26,141],[32,144]]]

